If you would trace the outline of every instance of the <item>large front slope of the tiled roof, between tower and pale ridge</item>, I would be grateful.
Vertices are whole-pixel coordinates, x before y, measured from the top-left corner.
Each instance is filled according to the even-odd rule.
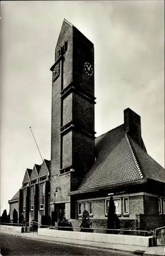
[[[103,187],[140,179],[124,131],[124,125],[96,139],[98,158],[83,179],[79,189]]]

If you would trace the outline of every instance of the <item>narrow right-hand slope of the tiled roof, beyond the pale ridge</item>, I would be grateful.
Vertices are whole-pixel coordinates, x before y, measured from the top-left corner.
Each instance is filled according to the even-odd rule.
[[[144,178],[165,183],[165,169],[140,148],[130,137],[129,141]]]

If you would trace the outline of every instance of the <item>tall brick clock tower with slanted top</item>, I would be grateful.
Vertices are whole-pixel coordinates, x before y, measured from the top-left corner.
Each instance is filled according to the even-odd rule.
[[[64,19],[52,71],[52,221],[75,218],[68,196],[95,162],[94,48]],[[54,223],[52,223],[54,224]]]

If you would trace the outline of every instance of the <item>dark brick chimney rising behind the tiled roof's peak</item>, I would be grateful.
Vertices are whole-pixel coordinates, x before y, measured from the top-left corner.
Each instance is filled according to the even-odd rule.
[[[124,110],[124,127],[129,137],[131,137],[139,146],[142,146],[141,120],[131,109]]]

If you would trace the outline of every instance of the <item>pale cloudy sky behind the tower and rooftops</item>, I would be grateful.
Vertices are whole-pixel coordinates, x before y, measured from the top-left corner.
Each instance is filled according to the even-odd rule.
[[[63,19],[95,47],[95,130],[141,116],[148,154],[164,167],[164,1],[2,1],[1,215],[26,168],[51,159],[54,53]]]

